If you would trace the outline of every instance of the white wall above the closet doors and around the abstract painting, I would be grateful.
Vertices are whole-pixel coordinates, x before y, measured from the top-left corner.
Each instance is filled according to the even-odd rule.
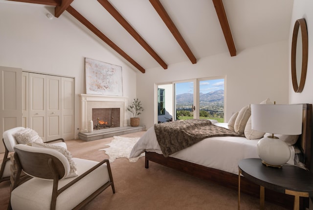
[[[46,18],[47,13],[54,14],[54,9],[0,0],[0,66],[75,77],[75,138],[78,138],[78,95],[86,93],[84,58],[122,66],[123,93],[131,99],[136,96],[137,72],[102,40],[84,32],[85,26],[67,12],[51,20]]]

